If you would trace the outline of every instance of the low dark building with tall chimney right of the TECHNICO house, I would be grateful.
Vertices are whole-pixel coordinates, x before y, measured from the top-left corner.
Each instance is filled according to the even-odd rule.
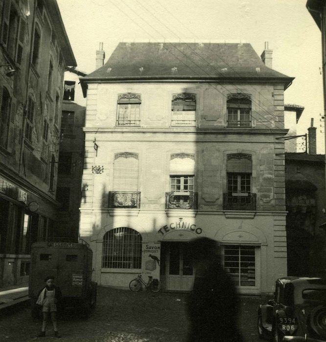
[[[307,150],[285,150],[287,274],[325,277],[325,155],[316,154],[316,128],[307,135]]]

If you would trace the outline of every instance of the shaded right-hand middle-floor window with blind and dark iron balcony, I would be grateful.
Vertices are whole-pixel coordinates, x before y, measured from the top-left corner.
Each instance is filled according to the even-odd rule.
[[[251,155],[227,156],[227,192],[223,193],[223,210],[256,210],[256,193],[252,193]]]

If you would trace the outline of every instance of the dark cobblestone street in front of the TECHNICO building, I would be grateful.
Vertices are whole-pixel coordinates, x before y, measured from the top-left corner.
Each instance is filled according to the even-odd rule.
[[[259,297],[241,297],[240,327],[246,342],[258,342],[256,311]],[[36,338],[41,320],[33,320],[28,304],[0,312],[0,341],[53,341],[52,324],[47,336]],[[98,287],[97,306],[88,318],[66,312],[58,320],[60,341],[182,342],[188,329],[186,294],[133,293]]]

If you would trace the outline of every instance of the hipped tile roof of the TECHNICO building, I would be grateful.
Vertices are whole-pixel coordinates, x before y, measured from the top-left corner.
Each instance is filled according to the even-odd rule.
[[[82,81],[293,78],[268,68],[249,43],[119,43]]]

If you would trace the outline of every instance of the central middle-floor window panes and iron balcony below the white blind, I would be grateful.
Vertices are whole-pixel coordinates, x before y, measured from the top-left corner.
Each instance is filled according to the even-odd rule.
[[[193,175],[170,175],[170,190],[165,194],[165,209],[198,209]]]

